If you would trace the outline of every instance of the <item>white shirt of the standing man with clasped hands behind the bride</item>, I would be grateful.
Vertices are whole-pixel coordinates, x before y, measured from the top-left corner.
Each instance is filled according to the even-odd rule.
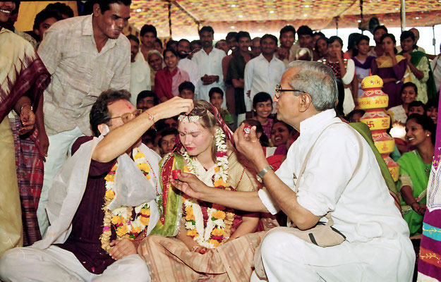
[[[200,77],[198,78],[198,85],[195,85],[199,89],[198,99],[203,99],[207,102],[210,102],[210,97],[208,96],[208,92],[212,87],[219,87],[224,91],[224,102],[222,103],[222,107],[226,107],[226,99],[225,92],[226,87],[224,85],[224,73],[222,71],[222,59],[226,56],[225,52],[216,48],[213,48],[210,51],[210,54],[205,53],[202,49],[193,55],[193,61],[198,64],[199,76],[203,77],[204,75],[219,75],[219,80],[210,85],[203,85]]]

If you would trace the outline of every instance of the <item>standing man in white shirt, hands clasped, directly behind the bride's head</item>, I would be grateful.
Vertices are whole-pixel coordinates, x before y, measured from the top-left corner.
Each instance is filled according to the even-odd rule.
[[[204,26],[199,31],[200,42],[203,49],[193,55],[193,61],[198,63],[199,80],[198,99],[210,102],[208,93],[212,87],[219,87],[222,91],[226,91],[224,85],[224,73],[222,72],[222,59],[226,56],[225,52],[213,47],[213,35],[215,32],[212,27]],[[222,102],[222,108],[226,107],[226,99]]]

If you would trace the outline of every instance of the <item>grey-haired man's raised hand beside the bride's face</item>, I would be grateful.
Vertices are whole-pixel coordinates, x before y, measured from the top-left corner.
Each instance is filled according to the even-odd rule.
[[[258,157],[263,156],[265,158],[259,138],[255,134],[255,126],[250,128],[249,134],[243,132],[244,127],[245,124],[242,123],[241,126],[236,129],[236,132],[233,135],[234,144],[236,144],[236,149],[238,149],[238,152],[253,162],[255,162]]]

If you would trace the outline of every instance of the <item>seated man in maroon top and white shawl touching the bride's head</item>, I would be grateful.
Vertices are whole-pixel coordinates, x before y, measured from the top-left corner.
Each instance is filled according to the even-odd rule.
[[[193,101],[176,97],[143,112],[129,97],[125,90],[98,97],[90,124],[99,137],[75,141],[49,193],[46,236],[5,252],[2,281],[150,281],[137,249],[159,219],[160,157],[140,137]]]

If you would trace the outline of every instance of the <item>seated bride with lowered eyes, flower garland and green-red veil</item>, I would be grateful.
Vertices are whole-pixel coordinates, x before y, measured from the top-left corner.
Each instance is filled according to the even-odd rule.
[[[238,161],[231,145],[231,131],[214,106],[198,100],[188,116],[179,116],[179,140],[176,152],[167,154],[160,163],[164,210],[152,233],[161,236],[148,236],[141,247],[152,280],[226,279],[229,265],[246,268],[250,275],[253,251],[244,251],[253,250],[259,240],[250,241],[244,235],[255,232],[258,214],[195,200],[176,190],[171,179],[172,171],[181,169],[210,187],[256,190],[257,181]]]

